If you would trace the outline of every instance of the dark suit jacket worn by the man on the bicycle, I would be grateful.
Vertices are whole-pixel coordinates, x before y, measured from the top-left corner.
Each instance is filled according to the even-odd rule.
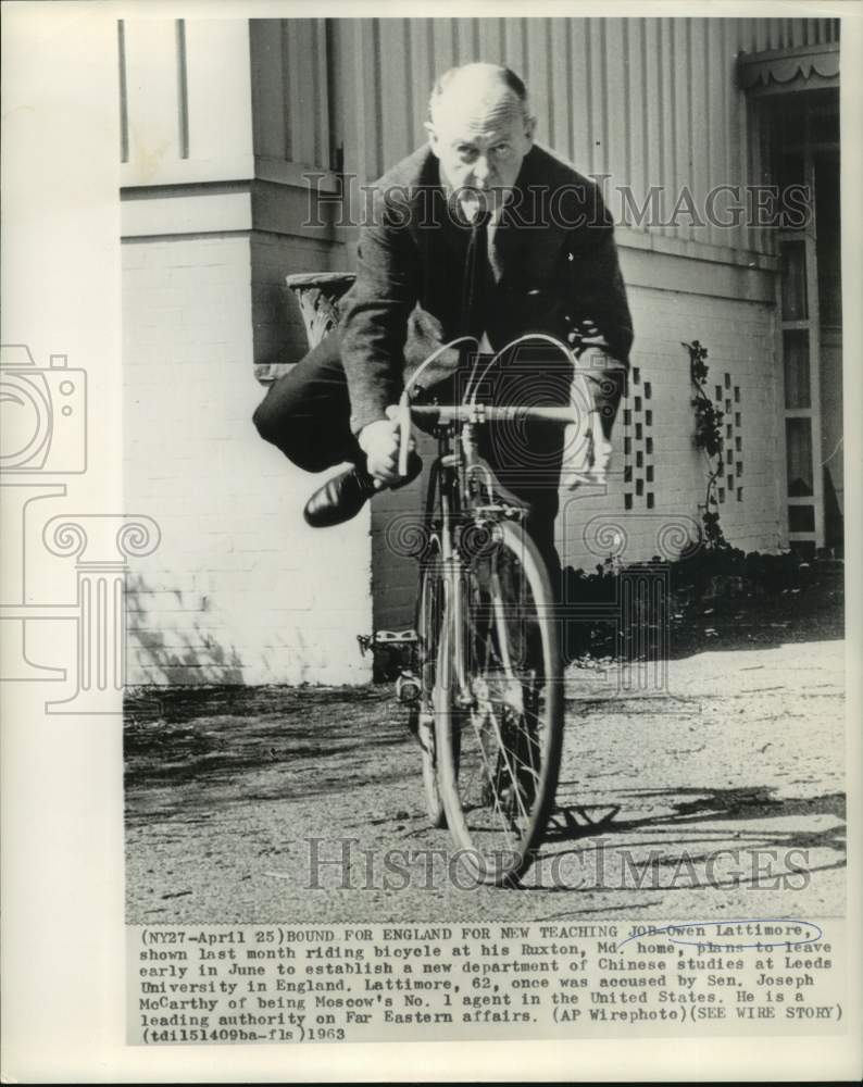
[[[456,208],[427,147],[376,183],[338,329],[354,433],[398,400],[405,370],[463,334],[470,225]],[[593,182],[534,147],[493,248],[500,278],[487,327],[492,348],[530,332],[565,341],[573,326],[590,318],[609,353],[628,363],[631,318],[612,220]]]

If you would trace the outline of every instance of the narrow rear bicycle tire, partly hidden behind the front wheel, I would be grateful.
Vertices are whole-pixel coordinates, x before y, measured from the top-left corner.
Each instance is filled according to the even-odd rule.
[[[443,574],[440,547],[436,537],[420,565],[420,587],[416,599],[416,663],[420,677],[420,702],[416,712],[416,738],[422,748],[423,791],[432,826],[447,825],[437,774],[436,730],[434,710],[435,672],[438,644],[443,619]]]

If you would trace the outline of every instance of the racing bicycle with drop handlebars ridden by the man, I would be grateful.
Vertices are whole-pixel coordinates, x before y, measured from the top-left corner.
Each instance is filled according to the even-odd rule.
[[[548,336],[545,340],[572,352]],[[446,348],[438,349],[411,384]],[[475,342],[475,341],[473,341]],[[499,352],[483,374],[500,358]],[[423,749],[426,807],[448,826],[477,882],[517,886],[554,802],[563,742],[562,662],[547,565],[525,508],[496,479],[477,432],[501,423],[577,423],[577,405],[477,402],[476,367],[460,404],[398,405],[400,471],[412,422],[432,424],[432,464],[420,558],[412,727]],[[473,386],[473,396],[471,387]],[[402,686],[402,696],[404,686]]]

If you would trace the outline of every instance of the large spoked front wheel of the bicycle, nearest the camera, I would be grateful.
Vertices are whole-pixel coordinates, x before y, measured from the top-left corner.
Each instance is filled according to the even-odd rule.
[[[477,880],[505,885],[529,866],[548,823],[563,696],[545,563],[521,526],[492,523],[486,535],[447,585],[438,783],[464,863]]]

